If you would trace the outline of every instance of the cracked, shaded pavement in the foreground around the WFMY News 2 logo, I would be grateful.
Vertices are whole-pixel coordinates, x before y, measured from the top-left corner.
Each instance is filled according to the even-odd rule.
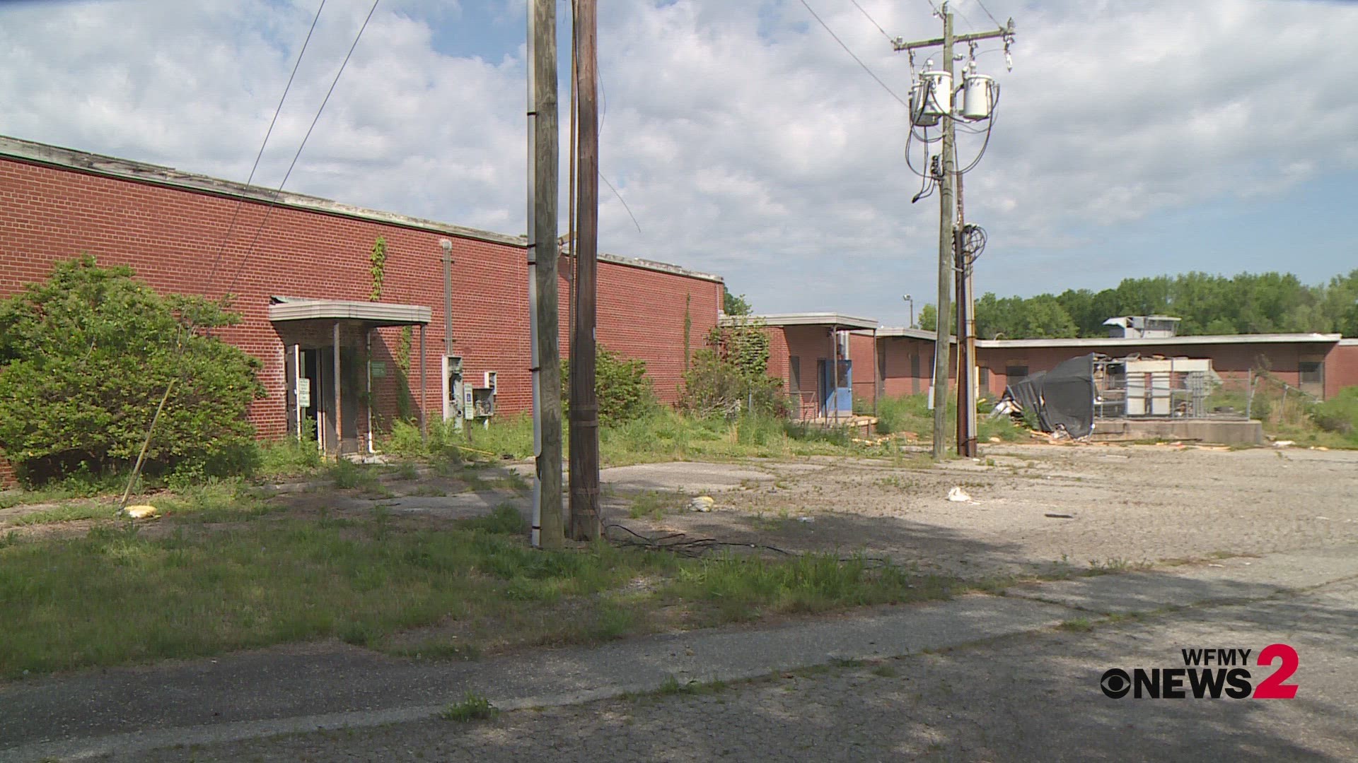
[[[490,721],[421,721],[139,755],[139,760],[1355,760],[1358,584],[1092,631],[781,673]],[[1248,634],[1243,637],[1241,634]],[[1296,701],[1108,699],[1112,667],[1179,667],[1180,648],[1283,641]],[[1270,671],[1253,668],[1258,682]]]

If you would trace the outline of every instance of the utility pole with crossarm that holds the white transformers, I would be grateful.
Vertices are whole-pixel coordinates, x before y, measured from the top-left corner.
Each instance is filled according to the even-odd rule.
[[[1009,20],[1009,24],[1006,27],[1001,27],[1001,29],[998,29],[995,31],[972,33],[972,34],[953,34],[953,30],[952,30],[952,11],[949,10],[948,5],[949,4],[947,1],[942,3],[941,10],[938,11],[938,15],[942,18],[942,37],[933,38],[933,39],[922,39],[922,41],[917,41],[917,42],[899,42],[898,41],[898,42],[894,43],[894,48],[896,50],[918,50],[918,49],[923,49],[923,48],[938,48],[938,46],[942,46],[942,62],[944,62],[944,71],[947,72],[947,81],[948,81],[948,88],[949,88],[948,92],[945,92],[945,94],[941,94],[941,95],[934,94],[934,95],[929,96],[929,98],[937,98],[938,103],[941,103],[947,109],[947,113],[941,115],[941,121],[942,121],[942,148],[941,148],[941,156],[938,157],[940,159],[938,160],[940,170],[934,175],[934,178],[938,181],[938,187],[940,187],[940,193],[938,193],[938,205],[940,205],[940,210],[938,210],[938,331],[937,331],[936,338],[934,338],[934,390],[933,390],[933,405],[934,405],[933,458],[934,459],[942,459],[944,449],[945,449],[945,432],[944,432],[944,426],[947,424],[947,415],[945,414],[947,414],[947,406],[948,406],[948,357],[949,357],[948,356],[948,349],[949,349],[948,348],[948,345],[949,345],[948,339],[949,339],[949,335],[951,335],[951,330],[949,330],[951,326],[949,324],[952,323],[952,310],[951,310],[951,305],[949,305],[949,297],[951,297],[952,289],[955,288],[955,285],[953,285],[953,278],[955,278],[955,273],[956,273],[955,261],[956,262],[966,262],[964,258],[955,257],[955,254],[957,253],[957,250],[960,247],[959,247],[957,236],[956,236],[957,228],[953,225],[953,223],[956,220],[956,215],[957,215],[956,201],[955,201],[955,183],[957,182],[957,174],[956,174],[956,118],[957,118],[957,110],[953,107],[953,88],[952,88],[953,77],[956,75],[956,71],[955,71],[955,67],[953,67],[953,46],[957,42],[974,42],[974,41],[978,41],[978,39],[987,39],[987,38],[1004,38],[1006,41],[1006,50],[1008,50],[1008,41],[1013,37],[1013,19]],[[911,115],[911,119],[913,118],[914,118],[914,115]],[[911,125],[911,129],[914,129],[914,125]],[[959,291],[966,291],[966,288],[961,285],[961,281],[966,281],[966,278],[957,278],[957,280],[959,280],[959,285],[957,285]],[[961,299],[964,296],[966,295],[960,295],[959,293],[959,303],[961,301]],[[959,305],[959,307],[960,307],[960,310],[966,310],[966,305]],[[966,315],[967,314],[964,314],[964,312],[959,312],[959,329],[960,329],[961,322],[967,319]],[[959,337],[959,342],[957,342],[957,352],[959,352],[959,360],[960,360],[960,356],[964,352],[963,341],[961,341],[960,337]],[[963,373],[959,373],[957,383],[964,390],[967,390],[967,398],[970,399],[971,398],[971,390],[974,388],[972,364],[971,364],[970,358],[967,360],[967,367],[963,369]],[[960,395],[959,395],[959,399],[960,399]],[[971,407],[974,409],[975,405],[972,403]],[[961,420],[967,414],[966,414],[964,410],[959,409],[957,415],[959,415],[959,420]],[[972,433],[971,437],[972,437],[972,443],[974,443],[974,437],[975,437],[975,425],[974,424],[971,426],[971,433]],[[959,440],[957,447],[959,447],[959,449],[961,449],[964,447],[964,441]],[[974,447],[974,444],[972,444],[972,447]]]

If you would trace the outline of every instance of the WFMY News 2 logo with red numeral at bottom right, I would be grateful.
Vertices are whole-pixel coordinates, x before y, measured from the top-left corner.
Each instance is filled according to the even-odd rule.
[[[1099,688],[1112,699],[1293,699],[1297,684],[1286,683],[1297,672],[1297,650],[1270,644],[1259,650],[1255,665],[1271,668],[1256,684],[1249,675],[1252,649],[1181,649],[1183,668],[1122,668],[1104,671]],[[1263,672],[1263,671],[1260,671]]]

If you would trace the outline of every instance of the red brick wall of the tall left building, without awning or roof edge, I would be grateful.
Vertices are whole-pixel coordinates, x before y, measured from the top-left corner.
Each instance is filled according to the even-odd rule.
[[[232,216],[234,234],[223,246]],[[261,221],[268,224],[251,250]],[[380,301],[432,308],[425,330],[425,372],[418,399],[418,333],[411,348],[410,391],[430,417],[443,410],[444,341],[439,240],[452,240],[454,339],[469,379],[498,372],[498,410],[531,406],[527,261],[521,246],[81,172],[0,157],[0,296],[45,280],[54,262],[81,253],[100,265],[129,265],[160,292],[236,295],[243,322],[217,335],[263,361],[268,396],[250,409],[263,437],[287,432],[284,345],[269,322],[269,297],[367,300],[369,251],[382,236],[387,259]],[[219,251],[221,253],[220,258]],[[650,253],[636,253],[650,254]],[[561,348],[569,352],[566,284],[561,293]],[[614,262],[599,263],[599,341],[646,361],[656,392],[674,402],[683,372],[684,314],[694,348],[717,322],[721,284]],[[378,331],[373,357],[390,360],[399,329]],[[394,410],[395,382],[378,386],[378,407]],[[3,468],[3,467],[0,467]]]

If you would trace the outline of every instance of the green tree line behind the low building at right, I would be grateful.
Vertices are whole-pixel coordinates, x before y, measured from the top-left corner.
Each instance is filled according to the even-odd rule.
[[[1316,331],[1358,337],[1358,270],[1313,286],[1290,273],[1181,273],[1124,278],[1116,288],[1100,292],[1066,289],[1032,297],[986,292],[976,300],[976,335],[1107,337],[1103,322],[1119,315],[1181,318],[1181,335]],[[933,305],[925,305],[919,327],[934,330],[936,316]]]

